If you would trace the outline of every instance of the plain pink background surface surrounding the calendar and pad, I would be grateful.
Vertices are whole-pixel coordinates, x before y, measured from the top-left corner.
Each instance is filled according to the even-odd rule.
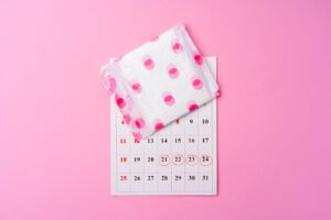
[[[330,10],[2,0],[0,219],[331,219]],[[218,57],[220,195],[111,197],[99,66],[180,21]]]

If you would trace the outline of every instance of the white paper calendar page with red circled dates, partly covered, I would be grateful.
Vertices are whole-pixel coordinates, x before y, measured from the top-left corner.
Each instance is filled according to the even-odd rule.
[[[216,57],[207,57],[216,75]],[[110,99],[111,195],[216,195],[216,100],[140,142]]]

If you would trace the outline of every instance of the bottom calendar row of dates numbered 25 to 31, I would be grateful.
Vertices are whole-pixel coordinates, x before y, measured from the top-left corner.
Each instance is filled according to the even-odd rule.
[[[119,191],[211,191],[213,190],[211,173],[189,174],[119,174]]]

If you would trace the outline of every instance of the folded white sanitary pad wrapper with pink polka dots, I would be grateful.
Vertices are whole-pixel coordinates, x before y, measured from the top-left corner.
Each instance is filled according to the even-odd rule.
[[[183,24],[102,67],[136,140],[149,136],[218,95],[216,81]]]

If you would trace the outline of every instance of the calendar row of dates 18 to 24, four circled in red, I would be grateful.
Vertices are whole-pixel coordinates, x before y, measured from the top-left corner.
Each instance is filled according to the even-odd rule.
[[[139,163],[158,163],[160,166],[182,166],[182,165],[190,165],[190,166],[210,166],[213,163],[213,158],[211,155],[194,155],[194,154],[174,154],[174,155],[167,155],[162,154],[159,156],[148,155],[148,156],[128,156],[128,155],[119,155],[118,161],[120,164],[131,163],[132,165]]]

